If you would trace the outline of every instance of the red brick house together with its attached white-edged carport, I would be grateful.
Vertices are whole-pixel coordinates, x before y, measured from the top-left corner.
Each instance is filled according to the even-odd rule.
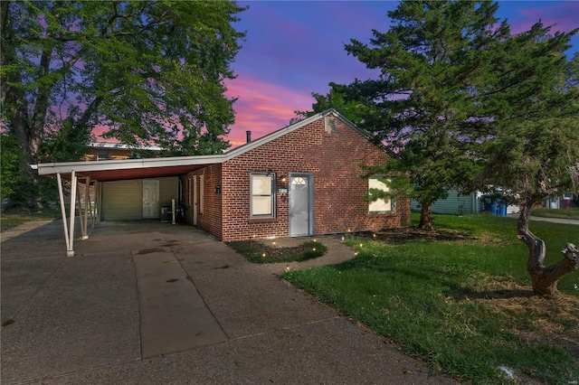
[[[359,164],[391,156],[330,109],[221,155],[35,167],[41,175],[98,181],[101,221],[160,219],[175,201],[186,222],[232,241],[408,226],[409,199],[362,199],[369,186],[386,187],[362,179]]]

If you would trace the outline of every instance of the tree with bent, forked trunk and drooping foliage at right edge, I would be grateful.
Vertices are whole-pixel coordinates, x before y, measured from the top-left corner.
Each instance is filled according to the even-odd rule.
[[[579,267],[579,249],[545,267],[545,242],[529,230],[531,210],[549,196],[579,191],[579,54],[567,61],[570,37],[536,23],[506,42],[485,90],[493,119],[480,147],[486,159],[475,182],[500,186],[522,200],[518,237],[528,248],[527,270],[538,295],[553,296],[559,278]]]

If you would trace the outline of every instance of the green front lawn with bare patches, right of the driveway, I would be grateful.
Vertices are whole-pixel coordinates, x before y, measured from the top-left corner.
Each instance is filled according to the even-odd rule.
[[[356,258],[283,277],[433,371],[481,384],[579,380],[579,272],[559,281],[562,296],[531,296],[516,219],[436,215],[435,228],[347,239]],[[579,244],[574,225],[530,228],[546,241],[547,263]]]

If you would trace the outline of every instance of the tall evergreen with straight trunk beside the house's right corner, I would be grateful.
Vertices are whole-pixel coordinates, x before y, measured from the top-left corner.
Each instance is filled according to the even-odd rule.
[[[363,108],[355,121],[399,156],[373,173],[409,175],[398,193],[422,206],[419,227],[432,227],[432,203],[451,188],[465,189],[479,165],[470,133],[489,124],[476,90],[488,81],[492,52],[508,37],[498,24],[497,4],[466,1],[403,1],[388,15],[386,33],[370,44],[353,40],[346,52],[378,80],[335,86]]]

